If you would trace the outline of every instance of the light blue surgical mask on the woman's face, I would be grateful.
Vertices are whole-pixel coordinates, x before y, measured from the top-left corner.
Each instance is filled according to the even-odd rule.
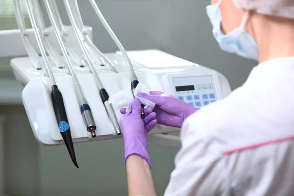
[[[213,25],[213,35],[219,43],[221,49],[226,52],[236,53],[239,56],[255,59],[258,61],[258,45],[253,37],[244,29],[248,17],[248,11],[244,15],[241,26],[229,34],[224,35],[224,33],[221,31],[221,1],[222,0],[206,7],[207,15],[211,24]]]

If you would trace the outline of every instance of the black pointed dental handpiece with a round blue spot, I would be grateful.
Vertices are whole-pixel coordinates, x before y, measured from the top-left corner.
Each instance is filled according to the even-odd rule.
[[[73,164],[76,168],[78,168],[73,148],[73,139],[71,135],[70,125],[68,123],[62,94],[59,91],[57,85],[52,86],[51,99],[58,124],[58,129],[65,143],[65,146],[67,147],[69,154],[72,158]]]

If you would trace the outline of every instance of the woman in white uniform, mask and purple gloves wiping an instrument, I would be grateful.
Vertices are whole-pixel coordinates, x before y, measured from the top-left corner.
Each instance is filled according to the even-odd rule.
[[[162,92],[138,94],[156,106],[142,119],[134,99],[120,122],[129,195],[156,195],[146,134],[159,123],[182,127],[166,196],[293,196],[294,0],[213,0],[207,14],[222,50],[259,65],[198,111]]]

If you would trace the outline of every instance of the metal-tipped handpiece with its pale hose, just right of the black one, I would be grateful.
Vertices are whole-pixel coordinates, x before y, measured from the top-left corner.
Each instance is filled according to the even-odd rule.
[[[77,77],[76,77],[76,75],[74,73],[73,65],[72,65],[72,63],[70,61],[70,58],[69,58],[69,55],[68,55],[67,50],[65,48],[65,45],[63,43],[62,37],[61,37],[61,35],[59,33],[60,30],[58,29],[58,26],[56,24],[54,14],[52,12],[49,0],[45,0],[45,6],[46,6],[46,9],[47,9],[47,12],[48,12],[48,15],[49,15],[50,22],[51,22],[51,24],[53,26],[55,35],[57,37],[57,41],[58,41],[59,46],[61,47],[62,53],[63,53],[63,55],[65,57],[66,68],[68,70],[68,73],[73,78],[75,92],[76,92],[76,95],[77,95],[77,98],[78,98],[78,101],[79,101],[79,104],[80,104],[80,111],[81,111],[82,118],[84,120],[84,123],[87,126],[87,131],[91,133],[92,138],[95,138],[96,137],[95,130],[96,130],[97,127],[96,127],[96,124],[95,124],[94,119],[93,119],[91,108],[90,108],[89,104],[87,103],[87,100],[84,98],[81,87],[80,87],[80,85],[78,83],[78,80],[77,80]],[[58,10],[53,10],[53,11],[56,12]]]

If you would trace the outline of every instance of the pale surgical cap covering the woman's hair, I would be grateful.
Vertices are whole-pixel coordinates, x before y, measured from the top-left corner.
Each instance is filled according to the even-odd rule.
[[[259,14],[294,19],[294,0],[233,0],[238,7]]]

